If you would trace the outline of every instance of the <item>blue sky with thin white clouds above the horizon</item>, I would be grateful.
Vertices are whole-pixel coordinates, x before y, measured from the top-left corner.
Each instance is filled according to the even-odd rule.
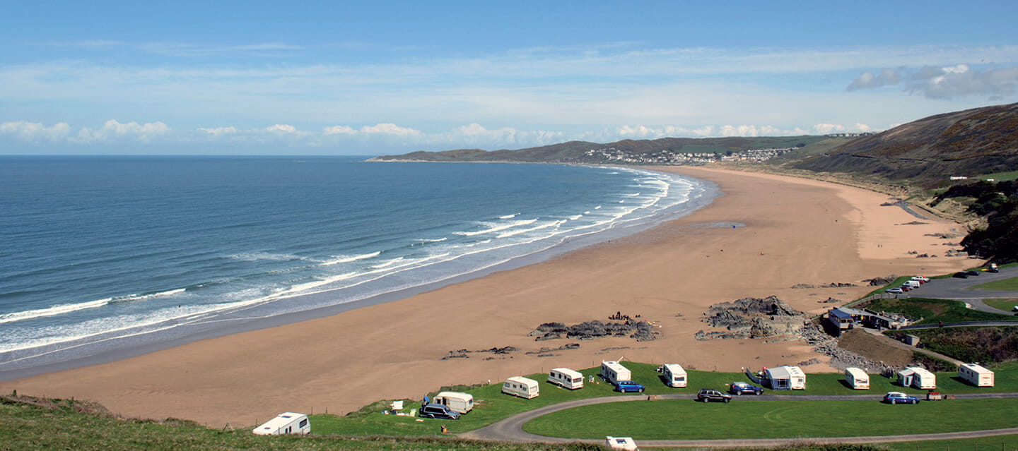
[[[882,131],[1018,102],[1012,1],[0,0],[0,154]]]

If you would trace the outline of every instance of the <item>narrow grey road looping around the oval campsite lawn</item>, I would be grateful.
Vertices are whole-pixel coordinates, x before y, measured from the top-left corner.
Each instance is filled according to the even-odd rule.
[[[693,394],[665,394],[657,395],[658,399],[694,399]],[[838,400],[838,399],[870,399],[880,400],[883,395],[760,395],[760,396],[740,396],[739,400],[775,400],[775,399],[803,399],[803,400]],[[989,398],[1018,398],[1018,393],[968,393],[957,394],[959,399],[989,399]],[[606,402],[628,402],[645,400],[646,395],[625,395],[625,396],[605,396],[600,398],[577,399],[575,401],[561,402],[553,405],[517,413],[501,422],[486,426],[478,430],[458,434],[459,437],[472,440],[495,440],[504,442],[541,442],[541,443],[603,443],[604,439],[564,439],[560,437],[545,437],[536,434],[523,432],[523,425],[527,422],[543,416],[551,412],[565,410],[567,408],[581,405],[603,404]],[[915,442],[923,440],[948,440],[948,439],[971,439],[979,437],[993,437],[1003,435],[1018,434],[1018,428],[996,429],[988,431],[966,431],[941,434],[913,434],[903,436],[862,436],[862,437],[808,437],[790,439],[727,439],[727,440],[640,440],[638,445],[645,447],[774,447],[801,443],[808,440],[810,443],[888,443],[888,442]]]

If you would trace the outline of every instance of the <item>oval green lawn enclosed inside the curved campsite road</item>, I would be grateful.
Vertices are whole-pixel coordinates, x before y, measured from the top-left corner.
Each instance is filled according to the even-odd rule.
[[[891,405],[875,400],[688,399],[612,402],[561,410],[523,426],[565,438],[748,439],[934,434],[1013,428],[1018,399],[955,399]]]

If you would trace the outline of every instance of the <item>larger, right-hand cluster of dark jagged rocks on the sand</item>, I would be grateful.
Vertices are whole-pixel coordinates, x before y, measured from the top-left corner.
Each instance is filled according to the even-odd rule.
[[[695,335],[697,340],[776,336],[794,339],[802,335],[802,327],[808,319],[802,312],[771,296],[715,304],[703,313],[700,321],[712,327],[724,327],[727,331],[700,330]]]

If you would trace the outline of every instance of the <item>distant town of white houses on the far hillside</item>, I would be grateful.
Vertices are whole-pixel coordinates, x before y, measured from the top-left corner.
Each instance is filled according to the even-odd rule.
[[[855,138],[873,134],[871,132],[833,133],[826,136],[832,138]],[[626,165],[705,165],[715,162],[765,162],[798,148],[799,146],[748,148],[729,150],[724,153],[683,152],[681,150],[659,150],[656,152],[637,153],[616,147],[602,147],[591,148],[583,152],[583,159]]]

